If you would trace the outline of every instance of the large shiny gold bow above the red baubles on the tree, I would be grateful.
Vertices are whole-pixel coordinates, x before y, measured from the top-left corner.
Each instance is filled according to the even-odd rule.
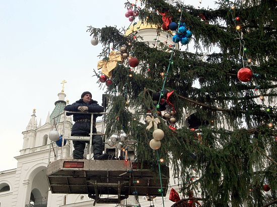
[[[100,60],[97,63],[97,69],[99,70],[102,68],[102,73],[105,74],[107,77],[112,77],[112,70],[116,67],[118,61],[122,62],[122,56],[116,55],[115,51],[111,51],[109,54],[108,60]]]

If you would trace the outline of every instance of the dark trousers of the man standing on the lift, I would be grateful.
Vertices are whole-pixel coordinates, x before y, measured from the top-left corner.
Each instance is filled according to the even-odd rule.
[[[96,132],[93,132],[96,133]],[[87,137],[87,134],[75,134],[72,136],[80,136]],[[86,147],[86,143],[90,143],[87,141],[73,141],[74,151],[73,151],[73,159],[84,159],[84,150]],[[92,145],[93,145],[93,155],[102,155],[103,153],[103,140],[100,135],[94,135],[92,137]]]

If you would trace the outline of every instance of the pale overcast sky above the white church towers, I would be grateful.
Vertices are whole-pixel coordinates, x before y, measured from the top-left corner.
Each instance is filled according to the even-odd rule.
[[[87,26],[127,27],[125,0],[0,0],[0,171],[17,167],[33,109],[45,123],[60,82],[70,103],[89,90],[101,103],[103,90],[92,77],[101,45],[92,46]],[[130,0],[134,3],[134,0]],[[139,3],[140,1],[138,1]],[[201,7],[214,1],[202,0]],[[199,1],[185,1],[198,7]]]

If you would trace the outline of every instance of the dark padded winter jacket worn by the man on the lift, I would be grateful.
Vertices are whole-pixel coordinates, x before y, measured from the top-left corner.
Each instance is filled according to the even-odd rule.
[[[72,105],[67,105],[64,107],[64,111],[69,111],[69,112],[80,112],[78,110],[78,107],[88,107],[89,110],[88,112],[104,112],[104,108],[101,107],[100,105],[97,104],[96,100],[91,100],[88,103],[85,103],[83,99],[77,100],[74,104]],[[91,119],[91,114],[74,114],[74,113],[66,113],[66,116],[71,116],[73,115],[73,121],[78,121],[78,120],[83,120],[83,119]],[[93,116],[93,123],[96,122],[96,118],[102,116],[102,115],[94,115]],[[93,127],[93,131],[96,131],[95,124]],[[90,133],[90,123],[75,123],[72,127],[72,136],[75,134],[89,134]]]

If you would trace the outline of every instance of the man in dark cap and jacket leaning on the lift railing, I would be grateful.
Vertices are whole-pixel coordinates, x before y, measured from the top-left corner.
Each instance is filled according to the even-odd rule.
[[[64,111],[70,112],[104,112],[104,108],[97,104],[96,100],[93,100],[91,92],[85,91],[81,95],[81,99],[77,100],[72,105],[67,105],[64,107]],[[67,116],[73,115],[73,121],[75,124],[72,127],[71,136],[80,136],[80,137],[89,137],[91,130],[91,114],[89,113],[66,113]],[[97,133],[96,131],[96,118],[102,115],[93,116],[93,134]],[[74,159],[84,159],[84,149],[86,146],[86,141],[73,141]],[[103,154],[103,141],[100,135],[94,135],[92,137],[93,145],[93,158],[95,160],[105,160],[108,159],[108,154]]]

